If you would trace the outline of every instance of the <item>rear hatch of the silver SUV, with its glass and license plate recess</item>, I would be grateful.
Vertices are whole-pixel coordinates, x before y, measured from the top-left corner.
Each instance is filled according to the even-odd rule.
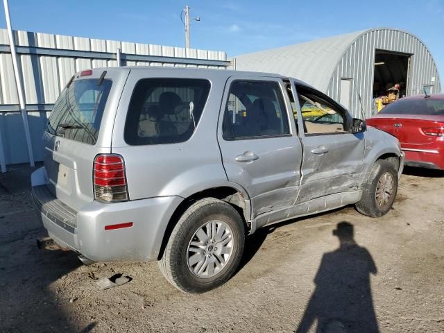
[[[94,157],[111,152],[112,126],[129,69],[88,69],[60,94],[44,131],[46,186],[74,210],[94,200]]]

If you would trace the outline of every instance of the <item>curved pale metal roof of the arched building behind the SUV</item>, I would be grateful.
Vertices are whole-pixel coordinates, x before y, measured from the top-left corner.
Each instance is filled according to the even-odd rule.
[[[236,68],[291,76],[326,91],[343,53],[363,33],[366,31],[236,56]]]

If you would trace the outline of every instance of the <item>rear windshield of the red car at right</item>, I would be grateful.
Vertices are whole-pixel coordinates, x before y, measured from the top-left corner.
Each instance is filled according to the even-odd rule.
[[[444,99],[400,99],[387,105],[379,113],[444,115]]]

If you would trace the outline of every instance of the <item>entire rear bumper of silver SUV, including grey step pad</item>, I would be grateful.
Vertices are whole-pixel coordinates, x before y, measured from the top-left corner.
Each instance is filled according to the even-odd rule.
[[[92,201],[75,212],[55,196],[49,198],[42,187],[46,186],[33,186],[33,198],[49,236],[94,261],[157,260],[169,220],[182,201],[177,196],[108,204]],[[67,221],[73,212],[74,221]],[[127,222],[133,226],[105,230],[105,225]]]

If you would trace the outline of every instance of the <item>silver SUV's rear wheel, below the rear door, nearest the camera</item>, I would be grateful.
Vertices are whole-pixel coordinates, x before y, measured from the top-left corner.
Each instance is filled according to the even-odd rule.
[[[244,222],[237,210],[215,198],[198,200],[171,232],[158,262],[160,271],[180,291],[210,291],[231,278],[244,244]]]

